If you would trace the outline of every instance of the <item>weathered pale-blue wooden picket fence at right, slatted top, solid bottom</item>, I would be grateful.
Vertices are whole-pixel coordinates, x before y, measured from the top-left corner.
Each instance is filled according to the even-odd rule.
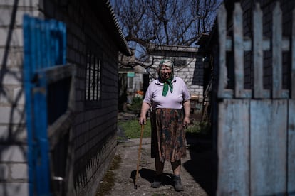
[[[239,3],[233,13],[233,37],[227,38],[222,5],[219,31],[217,97],[217,195],[295,195],[295,12],[291,38],[282,36],[279,3],[272,36],[263,37],[262,10],[254,9],[253,38],[243,36]],[[272,89],[263,86],[264,51],[272,51]],[[227,51],[234,53],[234,89],[227,88]],[[254,87],[244,89],[244,52],[252,51]],[[282,52],[291,52],[291,87],[282,89]]]

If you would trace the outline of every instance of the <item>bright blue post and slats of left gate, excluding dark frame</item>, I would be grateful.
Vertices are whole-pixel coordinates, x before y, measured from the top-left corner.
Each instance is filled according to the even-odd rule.
[[[24,15],[23,28],[29,194],[51,195],[47,82],[42,77],[36,81],[36,72],[66,64],[66,26]]]

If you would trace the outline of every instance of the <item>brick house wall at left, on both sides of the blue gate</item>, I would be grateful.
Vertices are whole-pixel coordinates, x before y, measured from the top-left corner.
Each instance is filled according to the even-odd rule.
[[[14,5],[14,2],[18,4]],[[68,3],[68,4],[66,4]],[[67,62],[76,64],[76,119],[71,133],[76,195],[95,195],[113,158],[118,110],[118,48],[83,1],[0,0],[0,195],[29,195],[22,87],[22,16],[54,18],[67,26]],[[86,33],[86,26],[90,31]],[[100,106],[85,107],[86,39],[103,48]]]

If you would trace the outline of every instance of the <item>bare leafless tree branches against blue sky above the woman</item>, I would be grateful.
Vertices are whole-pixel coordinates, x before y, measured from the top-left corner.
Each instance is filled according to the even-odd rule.
[[[196,46],[209,33],[220,0],[113,0],[123,35],[141,61],[153,45]]]

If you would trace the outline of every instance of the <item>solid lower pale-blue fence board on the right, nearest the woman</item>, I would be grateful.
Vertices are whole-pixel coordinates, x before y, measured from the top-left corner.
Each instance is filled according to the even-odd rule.
[[[249,195],[249,100],[224,99],[218,116],[217,195]]]

